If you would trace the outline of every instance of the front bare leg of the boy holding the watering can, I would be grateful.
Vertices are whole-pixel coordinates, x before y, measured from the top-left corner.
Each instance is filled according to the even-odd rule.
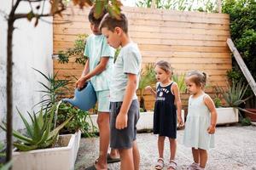
[[[109,145],[109,113],[99,112],[97,124],[100,131],[100,156],[96,163],[97,169],[107,169],[107,153]]]

